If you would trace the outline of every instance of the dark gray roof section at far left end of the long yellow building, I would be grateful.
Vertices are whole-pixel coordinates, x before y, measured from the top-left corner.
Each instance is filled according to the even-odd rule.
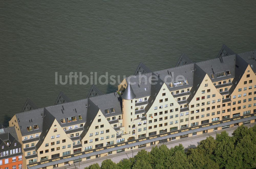
[[[38,133],[42,131],[44,108],[39,108],[35,110],[25,111],[16,114],[17,122],[20,128],[21,134],[29,135],[33,133]],[[33,129],[33,125],[37,124],[39,129]],[[31,126],[32,130],[28,131],[27,126]]]

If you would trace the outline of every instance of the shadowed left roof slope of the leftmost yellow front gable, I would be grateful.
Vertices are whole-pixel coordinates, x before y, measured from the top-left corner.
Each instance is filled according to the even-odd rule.
[[[48,131],[50,130],[54,120],[55,120],[55,117],[52,116],[52,114],[50,114],[50,112],[46,108],[44,108],[42,133],[40,134],[39,141],[36,144],[36,150],[38,150],[38,148],[40,148],[41,144],[44,142],[45,136],[47,135]]]

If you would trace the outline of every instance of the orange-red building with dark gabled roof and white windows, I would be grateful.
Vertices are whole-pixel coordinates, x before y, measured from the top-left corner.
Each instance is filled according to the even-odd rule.
[[[22,169],[22,151],[15,127],[0,129],[0,168]]]

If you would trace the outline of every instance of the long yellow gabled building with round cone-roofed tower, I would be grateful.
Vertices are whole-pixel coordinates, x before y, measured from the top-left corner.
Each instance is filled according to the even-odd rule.
[[[155,72],[140,63],[117,92],[93,86],[74,102],[60,93],[54,106],[16,114],[9,125],[24,166],[50,169],[252,123],[255,52],[235,54],[223,45],[215,59],[193,63],[182,54],[176,67]]]

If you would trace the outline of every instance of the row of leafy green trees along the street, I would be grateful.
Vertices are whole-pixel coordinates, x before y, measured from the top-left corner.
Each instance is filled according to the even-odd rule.
[[[180,144],[168,149],[166,145],[153,147],[151,152],[141,150],[134,158],[118,164],[110,159],[85,169],[172,169],[172,168],[256,168],[256,125],[239,126],[230,137],[226,131],[216,139],[207,137],[195,149],[184,151]]]

